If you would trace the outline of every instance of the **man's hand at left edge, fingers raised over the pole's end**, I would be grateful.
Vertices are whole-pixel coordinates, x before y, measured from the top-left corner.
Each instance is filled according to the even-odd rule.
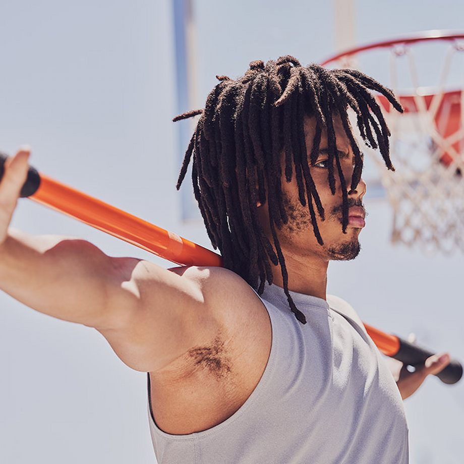
[[[30,151],[30,148],[25,145],[18,150],[15,156],[7,158],[4,164],[4,175],[0,181],[0,245],[8,236],[8,226],[21,189],[27,179]]]

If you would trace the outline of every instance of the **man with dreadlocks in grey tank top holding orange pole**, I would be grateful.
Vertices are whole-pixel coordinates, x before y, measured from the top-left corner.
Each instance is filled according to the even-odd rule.
[[[408,462],[401,398],[433,363],[395,385],[359,316],[326,295],[327,266],[355,258],[365,225],[362,153],[350,106],[386,166],[388,129],[349,70],[292,56],[218,78],[186,153],[224,268],[169,270],[106,256],[88,242],[8,228],[29,150],[0,183],[0,285],[45,314],[96,328],[148,373],[159,464]],[[268,284],[265,284],[267,281]]]

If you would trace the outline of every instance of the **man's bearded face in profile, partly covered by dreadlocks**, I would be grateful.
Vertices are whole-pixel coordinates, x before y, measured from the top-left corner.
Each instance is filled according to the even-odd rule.
[[[314,236],[311,216],[308,206],[303,206],[298,197],[298,184],[293,168],[292,181],[287,183],[285,180],[284,154],[281,156],[282,167],[282,200],[288,214],[288,222],[283,224],[279,230],[276,228],[277,237],[284,253],[294,254],[300,257],[319,256],[326,260],[349,260],[354,259],[360,252],[358,236],[364,226],[364,207],[362,199],[366,193],[366,184],[361,179],[360,183],[353,192],[350,192],[351,180],[354,170],[354,154],[344,132],[341,120],[338,116],[333,118],[333,126],[336,136],[336,145],[340,165],[346,181],[348,194],[348,206],[350,221],[346,227],[346,234],[342,232],[342,191],[336,161],[334,160],[335,195],[332,195],[327,181],[328,178],[328,143],[327,133],[322,132],[319,155],[314,166],[309,166],[311,177],[313,178],[316,190],[319,194],[322,206],[325,211],[325,220],[321,220],[314,206],[319,231],[324,245],[319,245]],[[315,119],[305,120],[306,149],[309,154],[313,146],[315,134]],[[258,208],[266,230],[269,230],[269,219],[267,204],[266,208]],[[358,215],[358,217],[356,217]],[[362,217],[359,217],[361,215]],[[272,243],[272,242],[271,242]]]

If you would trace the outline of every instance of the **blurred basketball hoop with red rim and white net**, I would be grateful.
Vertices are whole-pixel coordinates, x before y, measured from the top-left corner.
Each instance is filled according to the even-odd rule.
[[[400,114],[376,95],[391,131],[395,172],[358,137],[392,206],[392,242],[418,244],[426,252],[464,251],[463,51],[464,32],[428,31],[360,46],[322,63],[362,70],[390,87],[403,106]]]

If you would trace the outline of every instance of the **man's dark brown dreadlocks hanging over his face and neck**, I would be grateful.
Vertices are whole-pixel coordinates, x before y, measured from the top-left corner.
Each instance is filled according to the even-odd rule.
[[[363,160],[352,133],[347,109],[357,116],[357,125],[368,146],[379,148],[388,169],[387,128],[382,111],[369,90],[383,94],[395,109],[402,107],[391,90],[371,77],[351,69],[327,70],[306,67],[293,56],[277,61],[253,61],[237,80],[216,76],[219,83],[206,99],[204,109],[180,114],[172,121],[201,115],[187,148],[177,182],[181,187],[193,155],[192,181],[208,236],[219,248],[223,265],[244,278],[262,295],[267,280],[272,283],[271,263],[280,264],[283,288],[291,311],[306,324],[288,291],[288,275],[275,227],[286,224],[282,203],[280,153],[285,154],[285,179],[298,184],[299,200],[308,207],[315,237],[323,245],[316,211],[324,220],[324,208],[311,177],[309,162],[317,160],[321,132],[327,130],[328,183],[335,194],[334,165],[342,187],[342,230],[348,224],[348,198],[332,123],[340,116],[355,157],[351,189],[361,179]],[[304,117],[315,117],[311,153],[306,150]],[[374,136],[375,134],[375,136]],[[258,185],[258,189],[256,189]],[[266,190],[267,186],[267,190]],[[269,226],[274,247],[258,220],[257,202],[268,201]],[[259,278],[259,284],[258,284]]]

